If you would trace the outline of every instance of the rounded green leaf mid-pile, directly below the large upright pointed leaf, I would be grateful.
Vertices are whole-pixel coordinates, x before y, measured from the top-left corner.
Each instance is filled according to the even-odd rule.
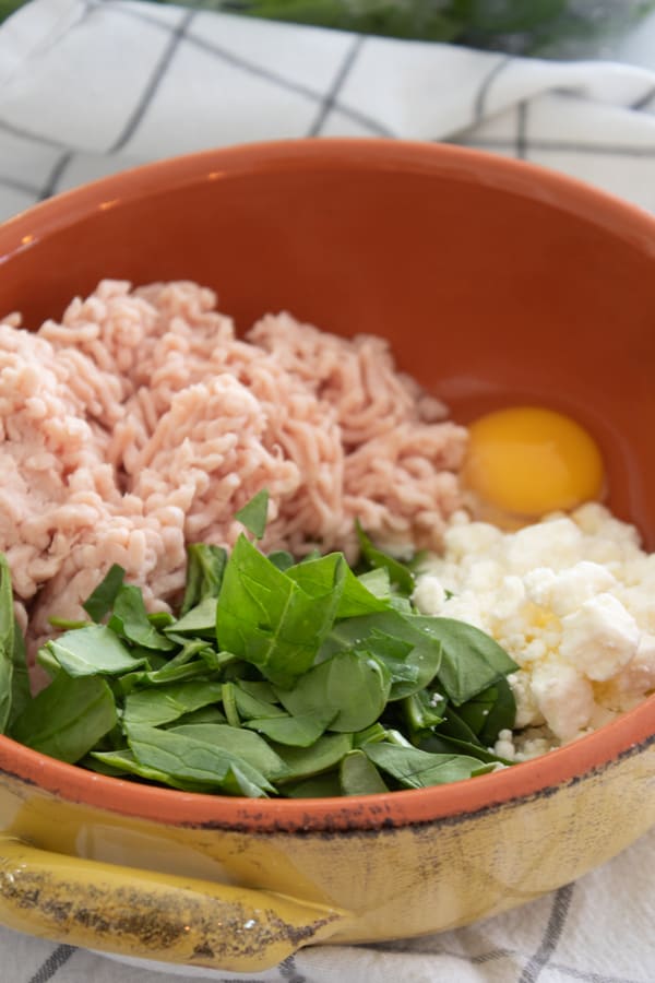
[[[357,651],[337,652],[306,673],[294,689],[276,689],[294,716],[333,713],[331,731],[362,731],[386,706],[391,677],[377,659]]]

